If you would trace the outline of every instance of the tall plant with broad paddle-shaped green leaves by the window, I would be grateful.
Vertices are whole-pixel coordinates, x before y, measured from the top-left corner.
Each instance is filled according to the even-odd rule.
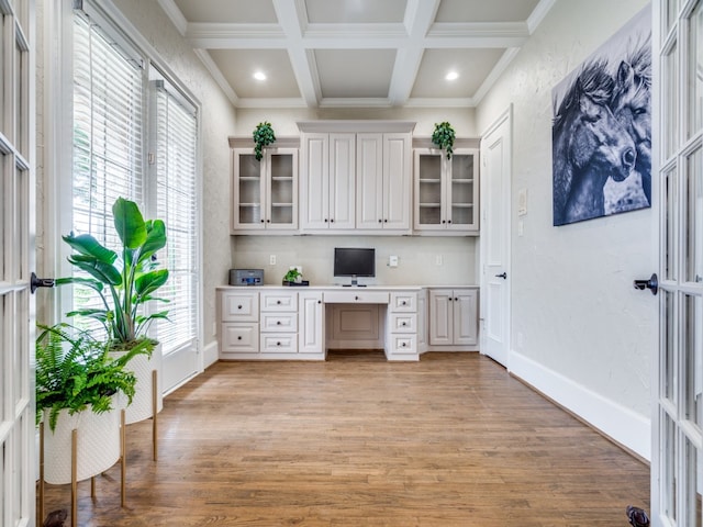
[[[63,236],[75,251],[68,261],[90,278],[59,278],[56,284],[85,285],[98,294],[101,307],[80,309],[67,315],[102,323],[112,348],[150,350],[156,343],[146,335],[148,326],[168,316],[167,311],[143,312],[148,301],[168,302],[154,296],[168,280],[168,269],[158,269],[158,262],[153,261],[156,251],[166,245],[166,225],[161,220],[145,221],[137,204],[123,198],[114,202],[112,215],[122,247],[109,249],[90,234]]]

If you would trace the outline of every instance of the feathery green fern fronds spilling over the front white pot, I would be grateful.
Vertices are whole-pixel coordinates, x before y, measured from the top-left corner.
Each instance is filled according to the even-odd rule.
[[[37,326],[36,422],[48,410],[48,425],[55,430],[62,410],[69,414],[90,407],[100,414],[112,410],[113,395],[122,392],[132,402],[136,377],[125,369],[136,355],[148,350],[137,347],[120,357],[110,355],[110,344],[66,323]]]

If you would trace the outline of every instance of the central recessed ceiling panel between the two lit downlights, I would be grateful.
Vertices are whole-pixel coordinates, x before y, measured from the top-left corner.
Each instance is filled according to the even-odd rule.
[[[314,56],[322,97],[388,97],[394,49],[316,49]]]

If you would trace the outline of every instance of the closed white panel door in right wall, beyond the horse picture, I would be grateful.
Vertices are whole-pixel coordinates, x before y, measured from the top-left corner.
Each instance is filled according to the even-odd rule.
[[[481,138],[481,352],[507,367],[510,350],[511,120]]]

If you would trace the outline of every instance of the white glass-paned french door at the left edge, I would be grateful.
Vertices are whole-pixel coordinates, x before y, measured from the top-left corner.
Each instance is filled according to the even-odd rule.
[[[0,525],[34,525],[34,2],[0,2]]]

